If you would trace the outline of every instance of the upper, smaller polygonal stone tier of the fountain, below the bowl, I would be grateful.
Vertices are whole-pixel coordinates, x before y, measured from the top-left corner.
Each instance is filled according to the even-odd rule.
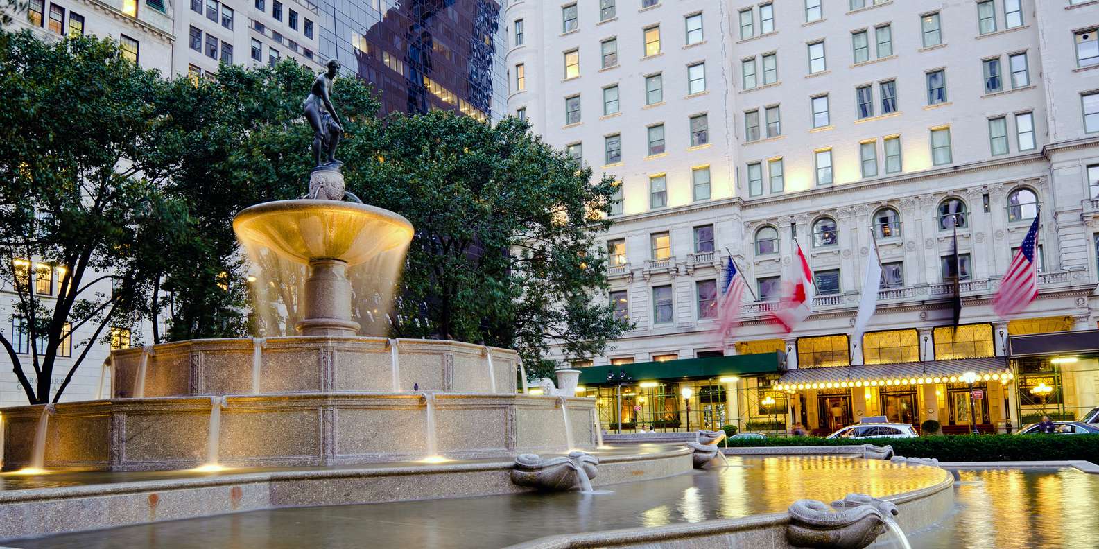
[[[440,391],[497,393],[518,389],[519,355],[510,349],[437,339],[396,339],[399,383],[384,337],[287,336],[193,339],[152,346],[144,396],[275,394],[308,392]],[[259,386],[253,389],[259,344]],[[143,349],[111,354],[110,395],[133,396]],[[419,386],[419,389],[413,389]],[[107,391],[104,391],[107,393]]]

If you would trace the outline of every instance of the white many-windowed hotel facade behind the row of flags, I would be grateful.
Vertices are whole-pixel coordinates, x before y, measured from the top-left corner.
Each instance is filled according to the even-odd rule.
[[[509,113],[620,181],[602,242],[634,327],[555,357],[585,368],[604,427],[990,432],[1099,405],[1099,343],[1080,343],[1099,341],[1099,2],[520,0],[504,19]],[[1000,318],[1035,216],[1039,298]],[[817,295],[786,334],[766,315],[798,244]],[[730,256],[750,292],[722,340]],[[1010,355],[1054,332],[1081,337]]]

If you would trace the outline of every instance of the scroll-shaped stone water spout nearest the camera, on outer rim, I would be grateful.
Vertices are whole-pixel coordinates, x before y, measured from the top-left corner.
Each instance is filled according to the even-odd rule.
[[[795,547],[863,549],[886,531],[886,522],[898,511],[866,494],[847,494],[831,508],[824,502],[799,500],[787,513],[786,540]]]

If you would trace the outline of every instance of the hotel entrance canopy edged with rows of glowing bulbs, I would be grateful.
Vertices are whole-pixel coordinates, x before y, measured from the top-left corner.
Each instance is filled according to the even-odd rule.
[[[777,391],[800,391],[806,389],[958,383],[964,382],[962,377],[966,372],[976,373],[978,381],[1007,381],[1011,379],[1007,359],[991,357],[787,370],[774,389]]]

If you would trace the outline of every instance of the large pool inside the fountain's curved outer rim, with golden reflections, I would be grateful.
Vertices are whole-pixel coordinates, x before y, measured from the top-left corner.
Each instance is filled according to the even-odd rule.
[[[32,548],[495,548],[565,533],[785,512],[799,498],[884,496],[939,482],[939,469],[837,457],[730,458],[730,467],[604,486],[611,493],[514,494],[240,513],[8,541]]]

